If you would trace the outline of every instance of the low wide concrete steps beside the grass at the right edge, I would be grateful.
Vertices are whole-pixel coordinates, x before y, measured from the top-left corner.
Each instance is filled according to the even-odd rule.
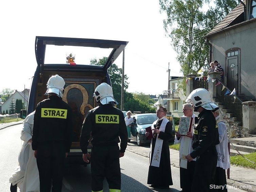
[[[230,156],[238,155],[237,150],[242,155],[256,152],[256,137],[234,138],[230,142]]]

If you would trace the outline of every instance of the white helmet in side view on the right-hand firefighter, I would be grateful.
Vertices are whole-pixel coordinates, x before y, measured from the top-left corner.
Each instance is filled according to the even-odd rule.
[[[211,101],[210,93],[204,88],[192,91],[186,99],[187,103],[192,103],[194,107],[201,106],[206,110],[216,110],[219,107]]]

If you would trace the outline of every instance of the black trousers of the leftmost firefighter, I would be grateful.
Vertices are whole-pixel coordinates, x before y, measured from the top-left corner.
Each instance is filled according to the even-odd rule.
[[[63,168],[66,159],[63,141],[38,142],[37,167],[40,192],[61,192]]]

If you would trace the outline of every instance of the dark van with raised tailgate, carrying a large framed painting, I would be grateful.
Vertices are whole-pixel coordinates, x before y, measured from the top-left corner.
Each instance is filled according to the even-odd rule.
[[[97,103],[93,98],[95,88],[102,82],[111,85],[108,68],[114,60],[122,53],[128,42],[113,41],[101,39],[81,39],[81,38],[63,38],[63,37],[36,37],[35,54],[37,68],[32,78],[27,114],[33,112],[37,104],[47,99],[44,93],[47,90],[49,77],[58,74],[65,80],[65,90],[62,96],[63,101],[68,103],[73,111],[73,139],[67,162],[70,164],[84,164],[82,152],[79,144],[81,127],[87,112]],[[87,64],[64,64],[54,63],[45,64],[45,52],[47,45],[53,46],[77,46],[77,47],[97,47],[110,50],[110,55],[104,64],[90,65]],[[75,48],[77,48],[75,47]],[[57,47],[58,49],[59,47]],[[93,49],[95,50],[95,49]],[[100,49],[102,50],[102,49]],[[87,54],[86,52],[84,54]],[[65,56],[63,61],[65,61]],[[94,59],[94,58],[91,58]],[[88,146],[90,152],[91,145]]]

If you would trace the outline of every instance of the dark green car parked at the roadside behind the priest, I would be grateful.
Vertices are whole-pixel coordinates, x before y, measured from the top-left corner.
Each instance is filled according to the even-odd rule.
[[[172,115],[166,115],[167,119],[172,120]],[[146,128],[151,127],[152,123],[156,121],[157,114],[156,113],[145,113],[145,114],[136,114],[131,116],[134,119],[134,122],[131,126],[131,137],[128,138],[128,142],[131,140],[134,140],[137,142],[138,146],[143,146],[144,143],[150,143],[151,139],[148,139],[145,135]],[[171,121],[172,123],[172,138],[173,140],[175,137],[175,126],[174,121]]]

